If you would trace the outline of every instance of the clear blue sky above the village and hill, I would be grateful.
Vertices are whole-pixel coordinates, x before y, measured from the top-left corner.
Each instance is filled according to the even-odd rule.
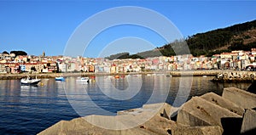
[[[69,37],[84,20],[102,10],[119,6],[154,10],[171,20],[183,37],[256,20],[256,2],[253,1],[0,1],[0,52],[24,50],[29,54],[40,55],[45,51],[49,56],[61,55]],[[101,56],[109,44],[118,47],[115,51],[125,51],[131,44],[122,44],[120,41],[127,42],[127,37],[132,37],[130,43],[134,47],[131,48],[137,47],[131,53],[166,43],[147,28],[119,25],[102,31],[85,53],[78,55]],[[144,45],[140,46],[136,41]]]

